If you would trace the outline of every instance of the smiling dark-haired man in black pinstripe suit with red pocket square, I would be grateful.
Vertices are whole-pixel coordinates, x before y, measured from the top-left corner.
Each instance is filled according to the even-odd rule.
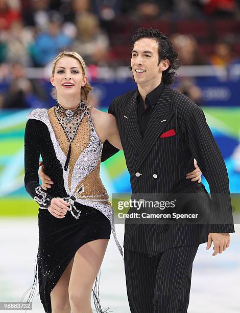
[[[125,224],[125,271],[133,313],[186,313],[199,244],[207,242],[208,250],[213,241],[217,255],[229,247],[229,233],[234,232],[227,170],[204,114],[168,87],[178,66],[166,36],[154,29],[136,31],[131,70],[137,90],[115,98],[109,107],[117,120],[132,191],[206,195],[202,184],[185,179],[195,158],[209,183],[211,201],[224,214],[218,211],[202,224]],[[103,160],[114,152],[106,143]],[[218,194],[226,194],[225,202]]]

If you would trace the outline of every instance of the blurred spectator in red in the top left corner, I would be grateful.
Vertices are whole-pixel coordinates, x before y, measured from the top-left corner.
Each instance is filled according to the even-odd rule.
[[[14,21],[21,20],[19,0],[13,2],[12,6],[10,4],[9,0],[0,0],[0,31],[8,30]]]

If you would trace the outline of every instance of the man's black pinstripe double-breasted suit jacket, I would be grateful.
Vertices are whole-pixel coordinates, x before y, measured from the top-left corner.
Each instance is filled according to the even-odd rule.
[[[226,223],[125,223],[124,248],[153,256],[180,245],[206,242],[209,232],[234,232],[226,166],[202,109],[183,94],[165,86],[142,138],[138,126],[136,95],[136,91],[128,92],[115,98],[109,107],[109,113],[117,120],[132,192],[206,194],[203,184],[185,178],[186,173],[194,169],[195,158],[209,183],[212,197],[218,202],[217,206],[220,205],[217,194],[226,195],[224,203],[221,200]],[[171,129],[175,130],[176,136],[160,138],[162,133]],[[103,152],[107,154],[106,150]]]

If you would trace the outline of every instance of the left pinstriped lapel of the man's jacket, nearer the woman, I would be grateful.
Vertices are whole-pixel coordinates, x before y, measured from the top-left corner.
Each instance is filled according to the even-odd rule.
[[[135,91],[124,109],[124,125],[133,146],[139,151],[142,137],[137,117],[137,92]]]

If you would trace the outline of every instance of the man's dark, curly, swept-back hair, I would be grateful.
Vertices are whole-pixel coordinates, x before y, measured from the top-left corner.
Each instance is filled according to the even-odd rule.
[[[157,41],[158,64],[161,60],[168,59],[170,61],[169,68],[162,72],[162,81],[165,85],[171,85],[176,78],[176,72],[174,70],[177,70],[180,66],[178,54],[174,51],[172,42],[157,29],[141,27],[132,36],[133,46],[136,41],[142,38],[150,38]]]

